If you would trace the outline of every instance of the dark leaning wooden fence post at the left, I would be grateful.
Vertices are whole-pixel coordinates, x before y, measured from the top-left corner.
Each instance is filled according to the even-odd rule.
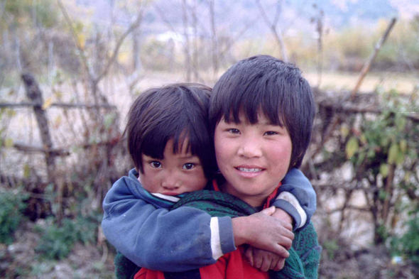
[[[36,80],[30,73],[21,75],[25,84],[26,96],[33,102],[33,111],[35,112],[36,121],[38,122],[40,138],[45,148],[45,162],[47,164],[48,182],[55,182],[55,155],[51,153],[53,141],[51,140],[50,128],[48,127],[48,117],[46,111],[42,109],[43,98],[42,92]]]

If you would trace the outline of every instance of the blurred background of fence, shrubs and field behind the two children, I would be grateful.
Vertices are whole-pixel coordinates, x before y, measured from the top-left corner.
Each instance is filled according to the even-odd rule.
[[[0,277],[113,278],[129,106],[258,54],[315,93],[320,278],[419,277],[418,1],[0,0],[0,43]]]

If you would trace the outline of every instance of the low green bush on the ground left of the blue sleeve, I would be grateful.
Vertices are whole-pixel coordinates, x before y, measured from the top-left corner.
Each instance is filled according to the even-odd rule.
[[[36,251],[48,259],[65,258],[75,242],[81,241],[83,244],[89,244],[94,241],[97,224],[97,220],[77,217],[75,220],[63,219],[61,226],[51,224],[45,229],[38,227],[42,237]]]

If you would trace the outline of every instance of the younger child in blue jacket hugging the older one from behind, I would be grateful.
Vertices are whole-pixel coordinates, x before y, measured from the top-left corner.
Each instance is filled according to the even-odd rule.
[[[232,219],[192,207],[167,210],[178,195],[200,190],[212,179],[209,92],[200,84],[174,84],[144,92],[131,107],[126,131],[136,170],[107,194],[102,227],[111,244],[138,266],[190,270],[215,263],[244,243],[288,256],[291,226],[260,212]],[[315,194],[298,170],[288,179],[295,184],[288,189],[305,199],[300,204],[309,209],[307,217],[297,199],[277,202],[293,208],[295,227],[303,226],[314,212]]]

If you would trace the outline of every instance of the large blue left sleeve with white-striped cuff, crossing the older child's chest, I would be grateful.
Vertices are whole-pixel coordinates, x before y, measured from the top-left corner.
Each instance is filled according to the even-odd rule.
[[[139,182],[122,177],[104,199],[102,229],[108,241],[137,266],[185,271],[215,263],[234,251],[232,221],[211,218],[192,207],[157,208],[138,191]]]

